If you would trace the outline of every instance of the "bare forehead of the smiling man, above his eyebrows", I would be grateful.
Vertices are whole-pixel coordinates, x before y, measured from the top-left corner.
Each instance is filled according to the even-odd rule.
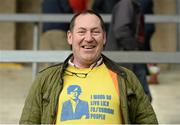
[[[101,27],[101,22],[94,14],[81,14],[76,18],[74,27]]]

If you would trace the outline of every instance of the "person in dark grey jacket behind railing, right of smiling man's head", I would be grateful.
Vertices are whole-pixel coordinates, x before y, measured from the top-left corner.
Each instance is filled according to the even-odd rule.
[[[138,0],[120,0],[113,8],[105,50],[144,50],[144,15]],[[121,64],[131,69],[152,101],[145,64]]]

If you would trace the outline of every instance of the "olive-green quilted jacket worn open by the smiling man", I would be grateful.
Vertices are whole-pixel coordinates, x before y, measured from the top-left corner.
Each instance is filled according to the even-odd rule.
[[[103,56],[105,65],[118,74],[120,109],[123,123],[157,124],[157,118],[148,97],[136,76]],[[39,72],[25,101],[20,124],[55,123],[58,99],[63,88],[63,72],[70,56],[64,63]]]

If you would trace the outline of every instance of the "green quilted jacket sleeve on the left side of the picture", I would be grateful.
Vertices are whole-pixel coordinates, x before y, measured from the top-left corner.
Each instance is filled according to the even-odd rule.
[[[41,123],[41,87],[40,76],[37,76],[29,94],[25,100],[20,124],[40,124]]]

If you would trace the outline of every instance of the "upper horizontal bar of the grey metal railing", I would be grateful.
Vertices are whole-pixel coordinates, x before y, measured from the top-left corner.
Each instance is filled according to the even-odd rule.
[[[111,21],[110,14],[101,14],[104,22]],[[0,22],[69,22],[73,14],[0,14]],[[146,23],[180,23],[178,15],[145,15]]]

